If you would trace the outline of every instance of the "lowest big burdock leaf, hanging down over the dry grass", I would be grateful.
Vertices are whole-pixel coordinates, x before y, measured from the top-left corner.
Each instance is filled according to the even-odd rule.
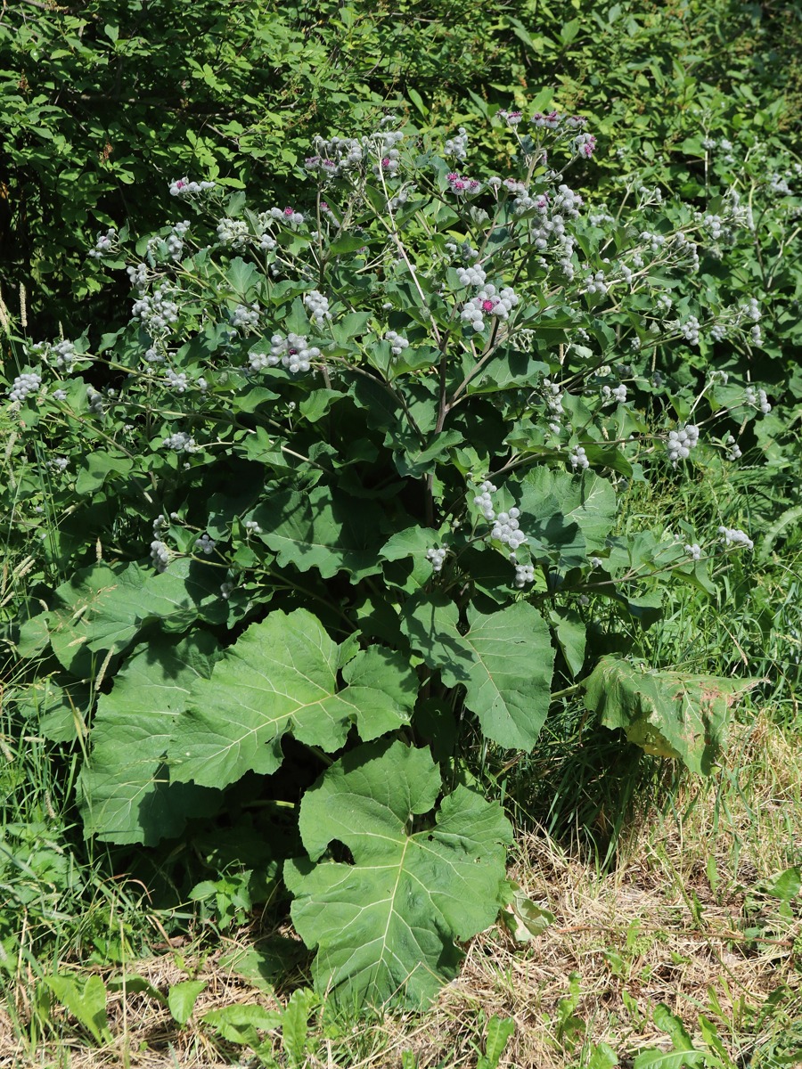
[[[311,861],[288,862],[292,918],[317,947],[315,987],[345,1004],[429,1002],[464,942],[495,920],[511,827],[465,787],[422,822],[441,791],[428,749],[368,743],[328,769],[300,804]],[[318,862],[339,841],[354,864]]]

